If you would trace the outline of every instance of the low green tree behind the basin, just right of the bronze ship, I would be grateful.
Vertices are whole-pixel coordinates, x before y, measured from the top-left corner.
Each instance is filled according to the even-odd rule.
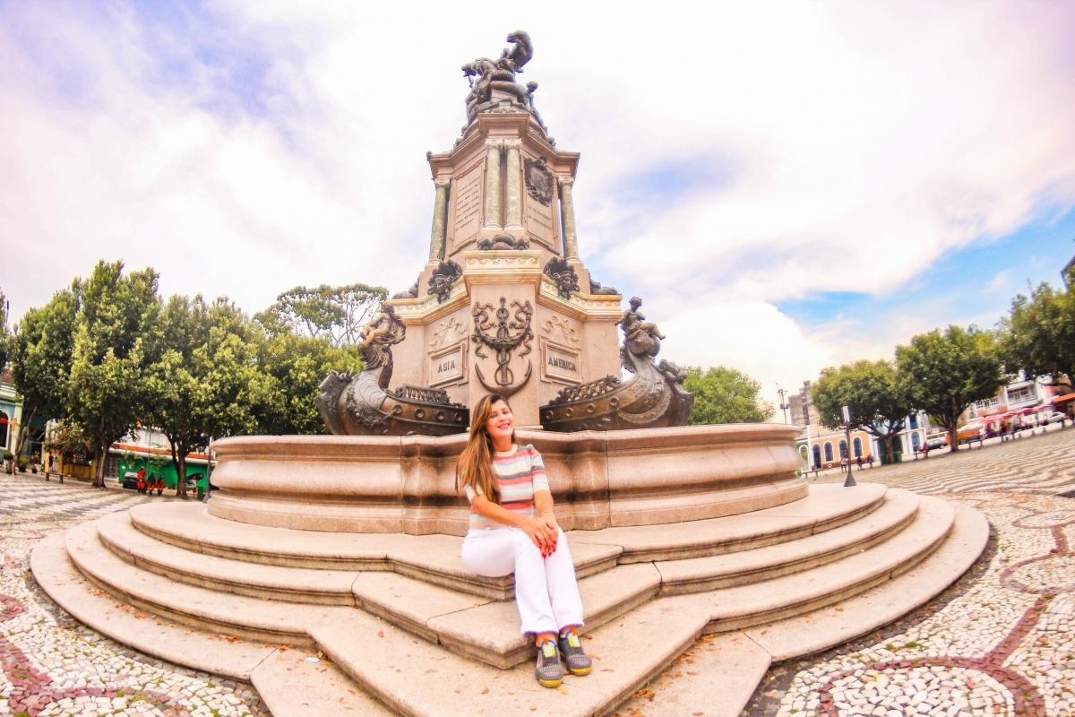
[[[773,416],[773,405],[761,401],[761,384],[742,371],[718,365],[707,371],[687,367],[684,388],[694,395],[690,424],[757,424]]]

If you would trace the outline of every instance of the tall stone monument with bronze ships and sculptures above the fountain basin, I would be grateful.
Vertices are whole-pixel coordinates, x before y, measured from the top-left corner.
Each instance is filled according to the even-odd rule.
[[[372,331],[366,372],[326,378],[318,405],[333,433],[465,431],[464,407],[488,392],[511,398],[522,428],[687,422],[693,397],[677,367],[654,362],[663,336],[633,318],[641,300],[621,312],[579,258],[578,154],[548,137],[536,83],[517,82],[530,37],[507,42],[497,60],[463,66],[468,124],[450,150],[427,155],[436,192],[426,264],[374,319],[397,328]],[[620,365],[633,377],[621,381]]]

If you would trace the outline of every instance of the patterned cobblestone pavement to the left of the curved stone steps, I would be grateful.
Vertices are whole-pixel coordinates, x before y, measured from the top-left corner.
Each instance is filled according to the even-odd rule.
[[[135,653],[76,622],[30,574],[33,545],[147,498],[40,474],[0,474],[0,715],[263,715],[246,684]]]

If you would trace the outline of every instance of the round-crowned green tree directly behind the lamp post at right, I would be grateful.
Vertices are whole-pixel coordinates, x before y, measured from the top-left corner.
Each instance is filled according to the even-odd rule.
[[[891,361],[861,360],[821,371],[813,403],[829,428],[845,428],[843,406],[851,410],[854,430],[863,430],[885,446],[885,460],[895,460],[894,439],[903,430],[914,402]]]

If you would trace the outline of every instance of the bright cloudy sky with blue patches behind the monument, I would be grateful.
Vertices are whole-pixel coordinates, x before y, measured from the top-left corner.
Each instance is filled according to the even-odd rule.
[[[460,66],[518,28],[582,154],[583,259],[643,297],[669,360],[773,400],[992,326],[1075,254],[1072,3],[0,0],[13,317],[100,258],[250,313],[300,284],[406,288]]]

